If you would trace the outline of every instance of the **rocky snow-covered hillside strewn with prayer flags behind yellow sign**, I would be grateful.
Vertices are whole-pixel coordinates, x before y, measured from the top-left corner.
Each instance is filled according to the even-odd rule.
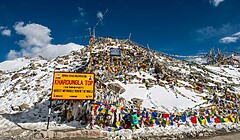
[[[111,57],[110,48],[120,48],[121,57]],[[89,118],[81,113],[91,116],[107,106],[107,110],[117,110],[117,106],[126,111],[178,113],[211,107],[219,100],[239,107],[237,65],[199,65],[165,56],[130,40],[112,38],[98,39],[92,53],[90,50],[90,46],[85,46],[54,60],[36,57],[0,63],[0,114],[5,118],[0,120],[0,128],[8,128],[12,122],[45,125],[39,123],[47,121],[54,71],[94,72],[96,76],[94,101],[53,102],[51,120],[57,122],[80,120],[84,124]],[[86,111],[91,107],[93,112]],[[71,110],[71,114],[62,116],[64,110]],[[96,115],[90,118],[97,120]]]

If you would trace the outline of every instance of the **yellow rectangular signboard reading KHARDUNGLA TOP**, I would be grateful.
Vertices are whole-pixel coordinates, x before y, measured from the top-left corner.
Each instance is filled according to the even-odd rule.
[[[52,100],[93,100],[94,74],[54,72]]]

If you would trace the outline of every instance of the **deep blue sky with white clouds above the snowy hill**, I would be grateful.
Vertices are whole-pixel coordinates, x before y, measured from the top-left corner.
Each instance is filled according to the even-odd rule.
[[[170,54],[239,51],[239,7],[239,0],[1,0],[0,62],[59,44],[86,45],[82,37],[106,9],[97,36],[131,33],[133,41]]]

